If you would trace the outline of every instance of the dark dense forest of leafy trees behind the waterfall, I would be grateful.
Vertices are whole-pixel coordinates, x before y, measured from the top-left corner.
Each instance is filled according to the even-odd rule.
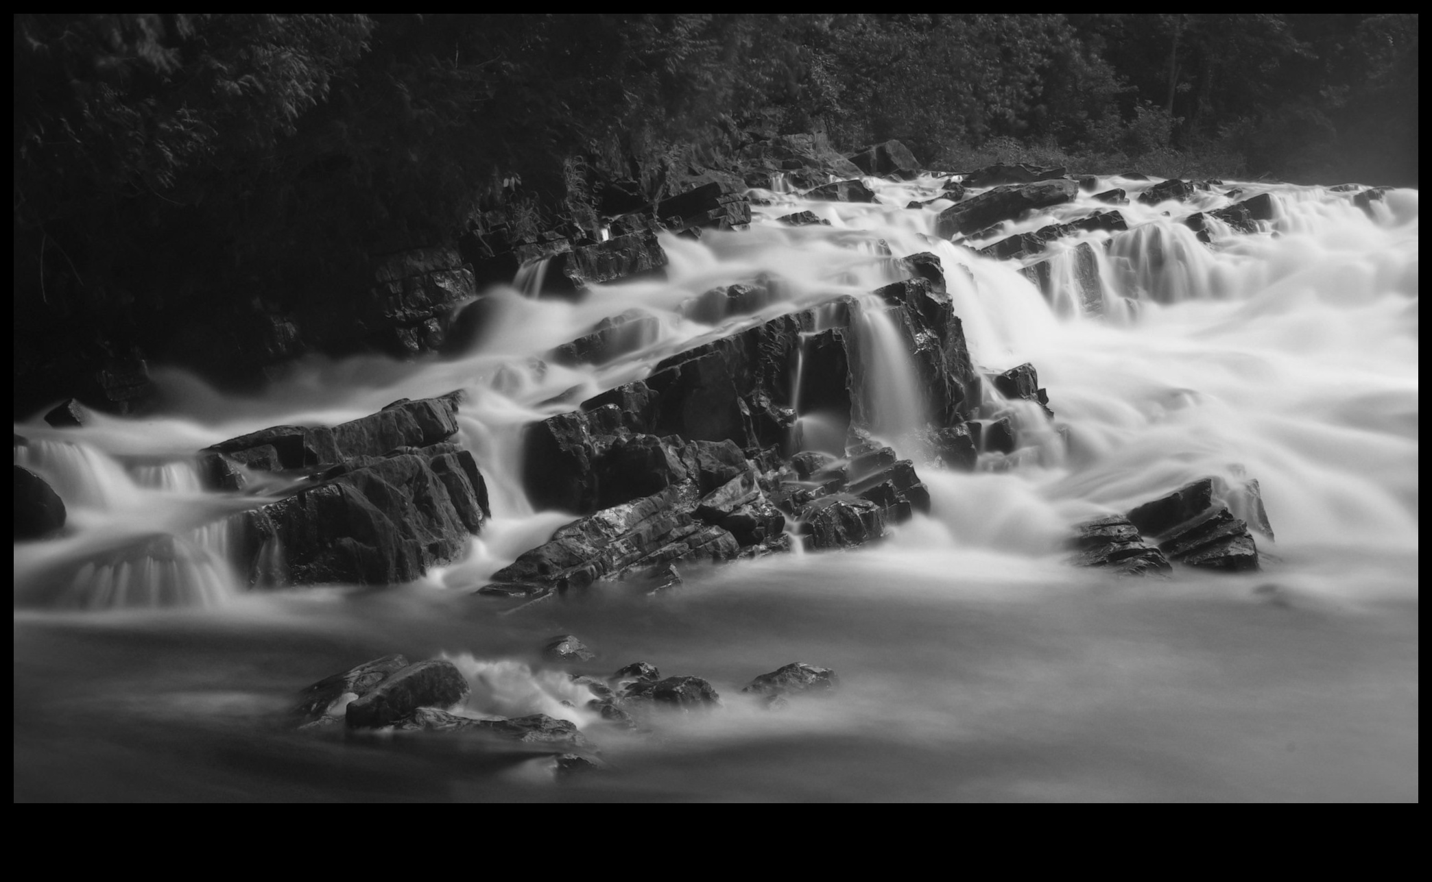
[[[1418,17],[19,14],[17,349],[341,291],[494,210],[590,225],[737,129],[1416,186]]]

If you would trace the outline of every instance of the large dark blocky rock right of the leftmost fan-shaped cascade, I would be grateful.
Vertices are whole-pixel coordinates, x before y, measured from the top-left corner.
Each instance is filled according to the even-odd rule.
[[[316,485],[235,517],[251,584],[275,548],[291,584],[394,584],[467,553],[487,518],[487,488],[468,451],[400,448],[349,458]]]

